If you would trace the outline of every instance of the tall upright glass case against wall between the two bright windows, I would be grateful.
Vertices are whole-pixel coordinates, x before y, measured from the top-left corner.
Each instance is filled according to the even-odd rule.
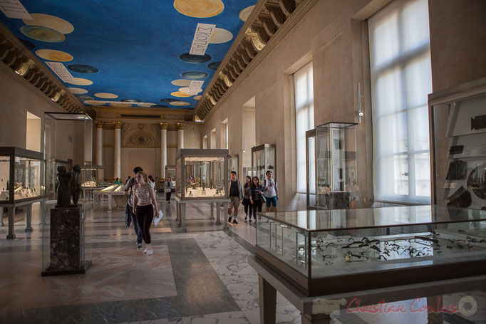
[[[357,208],[358,124],[329,122],[306,132],[308,209]]]

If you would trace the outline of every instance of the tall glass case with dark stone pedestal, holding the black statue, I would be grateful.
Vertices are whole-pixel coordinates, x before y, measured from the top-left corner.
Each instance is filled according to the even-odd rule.
[[[46,202],[42,214],[42,275],[84,273],[92,259],[91,204],[83,195],[73,213],[69,208],[57,208],[54,199],[58,167],[66,167],[63,161],[69,161],[66,172],[75,165],[81,169],[91,166],[93,120],[82,113],[44,113],[43,131],[45,183],[53,200]],[[86,172],[81,172],[81,184],[89,180]]]

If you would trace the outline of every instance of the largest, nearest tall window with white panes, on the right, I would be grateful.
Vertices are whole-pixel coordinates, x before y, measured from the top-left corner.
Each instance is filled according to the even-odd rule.
[[[430,203],[427,0],[395,0],[368,21],[375,199]]]

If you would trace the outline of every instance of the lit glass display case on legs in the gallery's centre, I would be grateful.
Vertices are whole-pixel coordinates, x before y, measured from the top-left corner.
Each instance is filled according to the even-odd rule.
[[[228,185],[228,150],[181,149],[175,159],[176,197],[210,200],[225,197]]]

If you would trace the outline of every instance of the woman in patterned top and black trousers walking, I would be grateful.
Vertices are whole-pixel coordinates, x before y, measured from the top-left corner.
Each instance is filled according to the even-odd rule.
[[[157,201],[155,200],[155,194],[152,186],[148,183],[147,174],[140,171],[135,176],[137,178],[137,184],[135,184],[135,196],[133,199],[133,214],[137,216],[138,228],[142,231],[143,241],[147,245],[147,248],[143,253],[151,256],[153,254],[152,246],[150,246],[150,225],[155,215],[158,216],[159,209],[157,207]]]

